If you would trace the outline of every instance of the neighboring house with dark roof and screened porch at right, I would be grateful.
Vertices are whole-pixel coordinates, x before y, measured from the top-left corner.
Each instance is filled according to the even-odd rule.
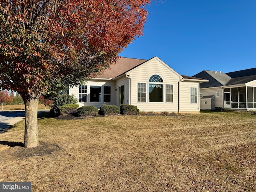
[[[209,80],[200,84],[201,102],[205,96],[214,96],[215,107],[228,110],[256,109],[256,68],[229,73],[204,70],[193,77]]]

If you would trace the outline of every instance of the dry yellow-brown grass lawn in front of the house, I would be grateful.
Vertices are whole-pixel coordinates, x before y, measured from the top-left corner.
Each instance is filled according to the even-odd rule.
[[[39,118],[38,129],[32,149],[19,146],[24,121],[0,134],[0,181],[31,181],[33,192],[256,191],[248,112]]]

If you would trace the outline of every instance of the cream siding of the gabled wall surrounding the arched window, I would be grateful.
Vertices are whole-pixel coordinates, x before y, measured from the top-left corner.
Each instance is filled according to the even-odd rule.
[[[157,74],[163,79],[163,102],[148,101],[148,80]],[[131,78],[131,104],[135,105],[140,111],[155,111],[155,112],[178,112],[178,81],[179,76],[170,68],[163,65],[158,60],[144,64],[130,73]],[[138,102],[138,83],[146,83],[146,102]],[[166,102],[166,84],[173,85],[173,102]]]

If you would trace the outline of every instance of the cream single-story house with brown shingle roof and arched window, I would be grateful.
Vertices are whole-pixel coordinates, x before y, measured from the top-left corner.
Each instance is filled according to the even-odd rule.
[[[68,94],[80,106],[131,104],[145,112],[199,113],[199,83],[206,81],[182,76],[157,57],[120,58],[86,84],[69,87]]]

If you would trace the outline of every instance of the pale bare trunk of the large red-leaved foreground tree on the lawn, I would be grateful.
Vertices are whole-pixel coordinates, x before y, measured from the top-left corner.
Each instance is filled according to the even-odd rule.
[[[25,135],[24,147],[31,148],[38,146],[37,110],[38,96],[30,94],[25,102]]]

